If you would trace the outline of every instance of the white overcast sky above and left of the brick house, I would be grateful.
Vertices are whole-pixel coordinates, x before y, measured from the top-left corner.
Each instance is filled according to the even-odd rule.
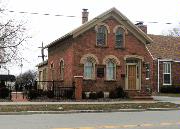
[[[83,8],[88,9],[90,20],[115,7],[133,23],[144,21],[150,34],[162,34],[180,25],[179,0],[2,0],[2,2],[6,5],[6,15],[16,21],[26,22],[27,33],[32,37],[23,43],[19,55],[24,58],[22,72],[36,69],[35,65],[41,62],[41,58],[38,58],[40,55],[38,47],[42,42],[47,45],[81,25]],[[7,65],[10,74],[20,74],[19,65],[20,61]],[[7,74],[7,70],[2,68],[0,72]]]

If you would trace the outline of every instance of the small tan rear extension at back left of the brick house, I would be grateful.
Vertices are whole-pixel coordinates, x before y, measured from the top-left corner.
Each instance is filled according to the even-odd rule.
[[[36,67],[38,67],[37,89],[46,91],[48,83],[48,61],[46,60],[38,64]]]

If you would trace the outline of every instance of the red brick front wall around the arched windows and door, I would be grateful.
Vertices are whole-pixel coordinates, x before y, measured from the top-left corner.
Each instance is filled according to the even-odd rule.
[[[83,75],[83,65],[80,64],[80,59],[84,54],[94,54],[98,60],[100,65],[102,65],[102,60],[107,55],[115,55],[120,60],[120,66],[117,67],[117,80],[116,81],[105,81],[104,78],[96,78],[93,81],[84,81],[84,91],[110,91],[116,86],[121,85],[125,86],[125,79],[121,77],[121,74],[125,74],[125,55],[139,55],[143,56],[145,62],[149,62],[151,66],[151,70],[153,69],[153,61],[150,57],[150,54],[145,48],[145,45],[141,43],[131,32],[125,36],[125,49],[117,49],[115,48],[115,34],[113,33],[113,29],[119,23],[114,19],[107,19],[104,21],[109,28],[110,33],[107,37],[107,47],[97,47],[96,46],[96,32],[94,27],[90,30],[86,31],[79,37],[75,39],[75,43],[73,44],[74,48],[74,75]],[[152,72],[151,72],[152,79]],[[145,80],[145,67],[142,63],[142,87],[151,84],[150,80]],[[143,89],[143,88],[142,88]]]

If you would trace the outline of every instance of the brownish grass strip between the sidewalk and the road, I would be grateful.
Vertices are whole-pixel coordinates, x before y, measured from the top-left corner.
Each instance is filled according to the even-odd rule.
[[[180,104],[158,103],[122,103],[122,104],[50,104],[50,105],[1,105],[0,112],[21,111],[70,111],[70,110],[112,110],[112,109],[148,109],[180,108]]]

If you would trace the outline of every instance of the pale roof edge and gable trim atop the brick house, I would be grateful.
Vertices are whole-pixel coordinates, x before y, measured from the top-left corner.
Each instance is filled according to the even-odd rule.
[[[97,25],[98,23],[104,21],[108,17],[114,17],[119,23],[125,26],[132,34],[134,34],[140,41],[143,43],[151,43],[153,42],[152,39],[145,34],[140,28],[134,25],[126,16],[124,16],[120,11],[116,8],[111,8],[106,12],[100,14],[99,16],[95,17],[94,19],[84,23],[80,27],[76,28],[75,30],[67,33],[66,35],[58,38],[57,40],[53,41],[52,43],[48,44],[46,47],[49,48],[55,45],[57,42],[62,41],[69,37],[77,37],[83,32],[87,31],[88,29],[92,28],[93,26]]]

